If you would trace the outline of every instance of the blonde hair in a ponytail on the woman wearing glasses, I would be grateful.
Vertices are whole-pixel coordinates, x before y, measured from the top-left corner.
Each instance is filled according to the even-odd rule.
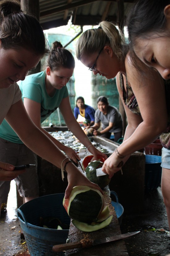
[[[80,60],[83,54],[100,51],[105,45],[109,45],[117,58],[122,60],[124,43],[123,34],[113,23],[101,21],[98,29],[88,29],[80,36],[75,53]]]

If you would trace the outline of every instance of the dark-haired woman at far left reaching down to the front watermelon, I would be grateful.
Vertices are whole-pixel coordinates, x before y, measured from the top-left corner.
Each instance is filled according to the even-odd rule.
[[[0,20],[0,123],[5,118],[28,148],[55,166],[64,168],[67,163],[66,198],[77,185],[89,185],[101,191],[96,184],[86,179],[70,159],[34,124],[24,108],[17,82],[24,80],[28,71],[35,68],[40,59],[49,53],[40,23],[34,16],[22,12],[17,0],[0,2]],[[87,140],[86,146],[91,146],[91,142]],[[89,150],[93,151],[93,146],[90,148]],[[24,172],[15,171],[13,164],[1,161],[1,181],[10,183]],[[1,184],[1,189],[5,192],[9,187],[10,184],[7,187],[5,183]],[[0,195],[0,204],[5,200],[3,196]]]

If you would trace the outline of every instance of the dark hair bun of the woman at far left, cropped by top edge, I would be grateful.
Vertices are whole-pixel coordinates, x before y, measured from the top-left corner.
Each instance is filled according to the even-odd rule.
[[[20,12],[21,6],[18,0],[4,0],[0,2],[0,13],[4,17],[11,13]]]

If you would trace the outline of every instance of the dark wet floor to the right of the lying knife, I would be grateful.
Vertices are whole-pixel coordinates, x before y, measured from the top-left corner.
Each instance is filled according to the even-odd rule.
[[[138,215],[124,215],[121,232],[140,230],[125,239],[130,256],[165,256],[170,253],[168,219],[160,187],[145,195],[144,210]],[[158,229],[163,228],[164,232]]]

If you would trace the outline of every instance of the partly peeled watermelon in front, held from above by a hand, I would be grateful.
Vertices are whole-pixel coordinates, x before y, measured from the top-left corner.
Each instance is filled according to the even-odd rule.
[[[98,230],[112,220],[112,216],[108,217],[108,206],[104,208],[104,197],[101,192],[89,186],[74,187],[69,198],[63,199],[63,205],[72,218],[72,223],[82,231]]]

